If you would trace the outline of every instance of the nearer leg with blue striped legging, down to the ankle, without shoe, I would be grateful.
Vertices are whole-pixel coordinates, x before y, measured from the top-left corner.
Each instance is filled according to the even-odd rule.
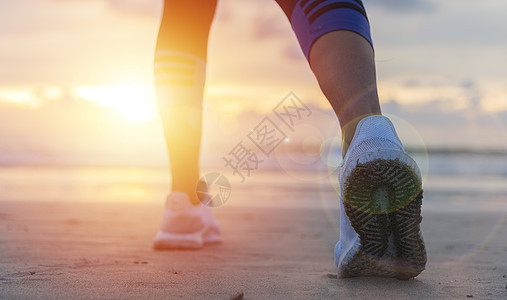
[[[381,114],[374,52],[362,3],[277,2],[291,20],[322,92],[340,121],[345,155],[357,123],[368,115]]]

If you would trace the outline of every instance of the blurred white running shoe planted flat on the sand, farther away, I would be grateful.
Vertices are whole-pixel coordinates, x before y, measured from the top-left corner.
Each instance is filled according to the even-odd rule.
[[[153,240],[155,249],[197,249],[205,243],[218,243],[220,227],[211,208],[193,205],[186,193],[167,197],[162,225]]]

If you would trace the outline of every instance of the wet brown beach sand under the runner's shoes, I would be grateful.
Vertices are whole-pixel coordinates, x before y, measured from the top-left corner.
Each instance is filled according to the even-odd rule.
[[[161,203],[0,201],[0,298],[507,298],[505,211],[432,203],[428,269],[400,281],[337,279],[338,211],[322,205],[226,204],[214,210],[222,244],[154,251]]]

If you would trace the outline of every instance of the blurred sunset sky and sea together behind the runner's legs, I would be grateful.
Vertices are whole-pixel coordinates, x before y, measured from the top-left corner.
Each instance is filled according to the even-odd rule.
[[[499,207],[507,2],[364,2],[383,111],[416,156],[429,198]],[[152,76],[161,10],[161,0],[0,2],[0,200],[162,201],[170,174]],[[219,1],[203,169],[228,172],[222,157],[290,92],[313,114],[244,187],[334,192],[338,123],[285,15],[271,0]]]

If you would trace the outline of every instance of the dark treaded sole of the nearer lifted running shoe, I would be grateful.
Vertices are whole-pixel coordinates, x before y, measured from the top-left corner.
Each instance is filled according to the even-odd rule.
[[[422,181],[415,161],[402,151],[363,153],[342,174],[345,213],[360,238],[351,276],[417,276],[426,263],[420,236]],[[396,264],[382,264],[389,236],[396,247]],[[377,262],[377,263],[375,263]]]

